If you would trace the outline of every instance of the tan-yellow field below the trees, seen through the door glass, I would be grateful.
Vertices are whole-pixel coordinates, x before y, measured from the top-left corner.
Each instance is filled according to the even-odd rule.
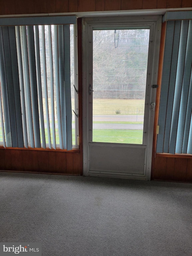
[[[144,108],[141,99],[93,99],[93,115],[143,115]]]

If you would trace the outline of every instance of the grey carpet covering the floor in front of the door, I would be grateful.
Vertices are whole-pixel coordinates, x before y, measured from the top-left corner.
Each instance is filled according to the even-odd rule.
[[[0,241],[44,256],[192,255],[192,184],[0,172]]]

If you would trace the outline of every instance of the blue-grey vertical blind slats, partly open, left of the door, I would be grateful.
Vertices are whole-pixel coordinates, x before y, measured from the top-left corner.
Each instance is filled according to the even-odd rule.
[[[0,82],[4,147],[72,149],[70,25],[1,26]]]

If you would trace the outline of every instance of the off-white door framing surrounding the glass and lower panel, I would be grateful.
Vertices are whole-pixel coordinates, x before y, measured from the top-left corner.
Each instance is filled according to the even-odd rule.
[[[124,17],[91,17],[83,18],[82,20],[82,72],[83,72],[83,175],[84,176],[104,176],[104,177],[114,177],[114,178],[126,178],[126,179],[151,179],[151,163],[152,163],[152,144],[153,144],[153,130],[154,130],[154,118],[155,111],[151,111],[151,103],[155,102],[156,99],[156,89],[152,89],[152,85],[157,84],[158,77],[158,63],[159,63],[159,50],[160,50],[160,39],[161,39],[161,24],[162,15],[150,15],[150,16],[124,16]],[[89,85],[92,84],[92,49],[89,44],[88,35],[91,34],[92,28],[95,29],[104,27],[119,26],[123,28],[134,26],[150,26],[153,33],[152,52],[151,55],[151,70],[148,74],[150,76],[149,82],[149,101],[147,116],[147,129],[148,134],[146,138],[146,166],[145,175],[141,176],[126,176],[126,175],[116,175],[116,174],[104,174],[104,173],[91,173],[89,172],[89,120],[92,117],[92,113],[89,107],[88,93]],[[147,89],[146,89],[147,92]],[[112,144],[112,143],[111,143]],[[126,144],[125,146],[128,146]],[[130,144],[133,147],[133,144]],[[142,146],[142,145],[140,145]],[[137,144],[134,146],[137,147]]]

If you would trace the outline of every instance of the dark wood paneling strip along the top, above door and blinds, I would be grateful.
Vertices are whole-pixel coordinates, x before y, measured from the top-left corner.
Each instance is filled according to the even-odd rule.
[[[0,15],[192,7],[192,0],[0,0]]]

